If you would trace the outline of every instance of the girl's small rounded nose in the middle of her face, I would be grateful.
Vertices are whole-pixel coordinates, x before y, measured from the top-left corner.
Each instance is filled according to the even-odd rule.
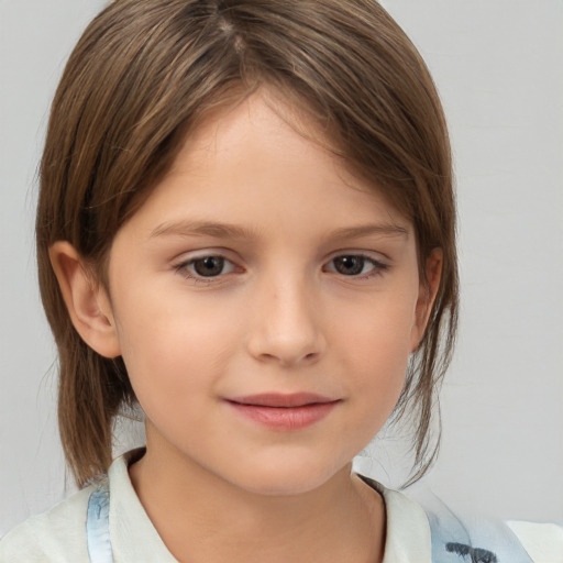
[[[286,276],[278,282],[271,279],[257,292],[249,335],[250,354],[283,367],[317,362],[327,341],[321,308],[307,284]]]

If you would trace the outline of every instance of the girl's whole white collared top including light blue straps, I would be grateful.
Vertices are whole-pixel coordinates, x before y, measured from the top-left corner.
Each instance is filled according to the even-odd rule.
[[[173,563],[119,457],[108,479],[33,517],[0,540],[0,563]],[[467,522],[439,503],[421,507],[364,478],[378,490],[387,517],[383,563],[563,563],[563,529],[529,522]]]

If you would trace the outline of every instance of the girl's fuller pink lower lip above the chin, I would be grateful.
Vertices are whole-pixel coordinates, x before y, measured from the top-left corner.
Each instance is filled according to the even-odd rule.
[[[339,401],[313,402],[301,407],[265,407],[231,402],[240,415],[273,430],[284,432],[301,430],[327,417]]]

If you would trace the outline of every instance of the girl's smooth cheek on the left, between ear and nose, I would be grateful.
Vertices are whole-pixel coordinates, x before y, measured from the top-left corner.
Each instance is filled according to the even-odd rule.
[[[115,314],[123,361],[147,415],[163,404],[180,398],[195,404],[201,394],[212,393],[232,354],[233,316],[185,301],[168,294],[143,302],[130,294]]]

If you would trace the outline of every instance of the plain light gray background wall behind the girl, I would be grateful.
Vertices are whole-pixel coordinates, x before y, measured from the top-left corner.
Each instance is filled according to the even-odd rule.
[[[64,62],[103,4],[0,1],[0,536],[70,490],[36,289],[35,174]],[[454,506],[563,521],[563,2],[383,4],[433,73],[457,176],[462,323],[426,484]],[[400,451],[391,435],[358,465],[396,484]]]

